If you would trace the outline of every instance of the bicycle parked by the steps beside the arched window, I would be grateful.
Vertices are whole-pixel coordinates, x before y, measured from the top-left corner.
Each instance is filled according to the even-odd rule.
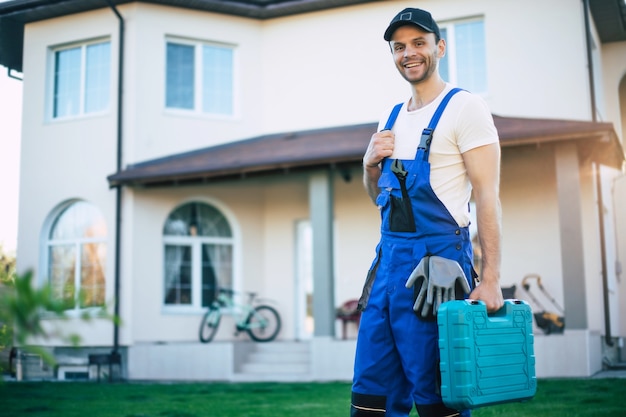
[[[255,305],[256,293],[246,292],[248,301],[237,304],[234,300],[235,291],[220,289],[217,299],[211,303],[200,324],[200,341],[209,343],[213,340],[220,325],[222,309],[229,309],[235,317],[235,336],[245,331],[255,342],[270,342],[278,336],[281,320],[274,307],[265,304]]]

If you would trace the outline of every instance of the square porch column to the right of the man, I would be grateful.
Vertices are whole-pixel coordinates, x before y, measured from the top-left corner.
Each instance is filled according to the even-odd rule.
[[[575,144],[556,146],[565,327],[587,328],[580,163]]]

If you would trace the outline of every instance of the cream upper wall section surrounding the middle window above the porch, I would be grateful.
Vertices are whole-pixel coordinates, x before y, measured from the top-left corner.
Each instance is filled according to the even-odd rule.
[[[145,3],[121,6],[120,13],[129,29],[126,161],[148,160],[260,133],[264,81],[257,68],[264,58],[259,21]],[[235,45],[234,116],[165,109],[165,49],[169,39]]]

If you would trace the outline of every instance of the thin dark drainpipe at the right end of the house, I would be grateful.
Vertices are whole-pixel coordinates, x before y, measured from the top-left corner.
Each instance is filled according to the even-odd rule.
[[[591,25],[589,23],[589,0],[583,0],[585,16],[585,38],[587,41],[587,66],[589,74],[589,94],[591,96],[591,120],[597,122],[596,90],[593,81],[593,60],[591,52]],[[607,276],[606,245],[604,237],[604,202],[602,200],[602,183],[600,176],[600,164],[594,162],[596,193],[598,194],[598,227],[600,229],[600,257],[602,258],[602,296],[604,301],[604,340],[608,346],[613,346],[611,336],[611,312],[609,308],[609,285]]]

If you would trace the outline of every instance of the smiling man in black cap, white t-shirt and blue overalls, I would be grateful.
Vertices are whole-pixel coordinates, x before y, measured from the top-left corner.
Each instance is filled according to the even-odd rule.
[[[414,311],[419,282],[409,277],[426,256],[442,257],[465,275],[465,290],[454,298],[471,291],[469,298],[482,300],[488,311],[502,307],[498,134],[484,101],[467,91],[449,98],[432,136],[422,134],[452,90],[439,75],[446,43],[430,13],[401,11],[384,39],[411,97],[395,121],[386,113],[363,157],[364,185],[382,224],[360,300],[351,416],[408,416],[413,404],[420,417],[469,416],[469,410],[442,403],[437,322],[421,306]],[[472,189],[482,251],[480,284],[473,290]]]

